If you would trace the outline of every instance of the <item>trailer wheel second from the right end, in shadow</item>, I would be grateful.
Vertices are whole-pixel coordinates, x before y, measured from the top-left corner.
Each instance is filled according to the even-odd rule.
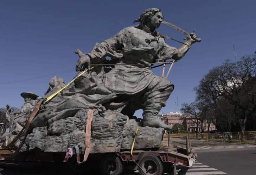
[[[100,171],[103,175],[120,175],[123,164],[116,154],[106,154],[100,161]]]

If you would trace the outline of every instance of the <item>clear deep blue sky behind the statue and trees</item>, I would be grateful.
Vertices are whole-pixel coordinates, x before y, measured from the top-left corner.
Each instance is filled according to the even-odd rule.
[[[193,87],[213,66],[227,58],[237,58],[256,51],[256,1],[252,0],[94,0],[94,1],[0,1],[0,83],[34,78],[75,69],[78,56],[74,49],[89,52],[133,21],[147,8],[160,8],[164,20],[181,28],[196,29],[202,42],[195,43],[176,62],[168,80],[175,89],[161,112],[175,111],[174,102],[193,102]],[[161,25],[159,32],[183,41],[184,35]],[[173,47],[180,44],[166,41]],[[161,75],[161,68],[153,69]],[[75,70],[61,73],[68,83]],[[0,84],[0,107],[23,105],[21,92],[43,96],[52,76],[18,83]],[[141,111],[136,113],[141,115]]]

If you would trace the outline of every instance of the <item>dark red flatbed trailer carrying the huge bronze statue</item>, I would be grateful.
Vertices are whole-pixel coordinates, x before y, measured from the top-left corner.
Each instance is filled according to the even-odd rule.
[[[6,155],[12,154],[13,149],[0,149],[0,162],[52,162],[61,163],[65,157],[64,152],[20,152],[14,158],[6,159]],[[82,148],[79,148],[79,157],[82,157]],[[103,175],[120,175],[125,170],[139,170],[140,175],[161,175],[174,165],[191,167],[196,161],[197,154],[192,151],[190,140],[187,136],[185,148],[152,148],[136,149],[132,153],[123,150],[114,153],[92,153],[89,154],[85,163],[78,164],[75,148],[73,155],[66,162],[73,174],[87,174],[92,169],[100,170]]]

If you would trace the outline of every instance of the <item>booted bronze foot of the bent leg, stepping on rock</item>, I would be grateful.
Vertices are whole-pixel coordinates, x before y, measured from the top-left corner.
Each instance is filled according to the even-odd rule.
[[[166,125],[160,118],[158,117],[144,117],[142,119],[143,126],[149,126],[154,128],[165,128],[165,130],[171,130],[172,127]]]

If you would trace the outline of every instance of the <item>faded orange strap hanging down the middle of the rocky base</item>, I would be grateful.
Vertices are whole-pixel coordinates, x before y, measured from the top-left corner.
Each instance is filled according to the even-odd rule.
[[[91,149],[91,121],[93,117],[93,109],[90,107],[89,112],[88,112],[88,117],[87,117],[87,123],[86,123],[86,128],[85,128],[85,153],[84,153],[84,160],[80,162],[80,156],[79,156],[79,149],[78,146],[75,146],[76,148],[76,159],[77,163],[83,163],[87,160],[90,149]]]

